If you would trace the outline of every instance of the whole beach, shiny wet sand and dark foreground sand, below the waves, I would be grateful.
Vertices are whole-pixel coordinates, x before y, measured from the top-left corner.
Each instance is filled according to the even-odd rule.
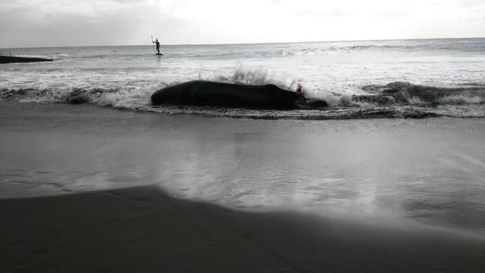
[[[485,270],[481,120],[1,115],[0,272]]]

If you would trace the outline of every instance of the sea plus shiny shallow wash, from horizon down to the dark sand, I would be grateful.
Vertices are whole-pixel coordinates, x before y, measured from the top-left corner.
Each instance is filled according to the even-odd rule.
[[[485,39],[0,49],[0,198],[157,184],[249,211],[485,235]],[[186,80],[322,110],[152,106]]]

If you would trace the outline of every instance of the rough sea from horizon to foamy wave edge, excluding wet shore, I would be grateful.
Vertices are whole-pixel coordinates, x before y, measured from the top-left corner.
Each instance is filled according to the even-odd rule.
[[[485,39],[421,39],[290,44],[89,46],[0,49],[53,58],[0,65],[0,98],[89,102],[158,113],[235,118],[485,117]],[[302,84],[325,110],[245,110],[151,106],[157,89],[187,80]]]

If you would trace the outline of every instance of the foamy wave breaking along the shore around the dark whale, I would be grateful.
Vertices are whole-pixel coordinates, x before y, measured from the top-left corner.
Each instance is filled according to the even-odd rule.
[[[259,76],[258,76],[259,75]],[[278,84],[292,89],[295,81],[277,80],[264,73],[236,70],[233,77],[225,81],[246,84]],[[174,83],[172,83],[174,84]],[[334,94],[340,99],[328,100],[330,106],[318,110],[248,110],[204,106],[152,106],[150,96],[156,89],[72,88],[72,89],[0,89],[0,99],[36,103],[93,103],[99,106],[125,108],[129,110],[202,115],[210,117],[252,119],[359,119],[359,118],[429,118],[448,116],[455,118],[485,118],[485,86],[474,84],[458,87],[431,87],[409,82],[391,82],[361,87],[368,94],[351,96]]]

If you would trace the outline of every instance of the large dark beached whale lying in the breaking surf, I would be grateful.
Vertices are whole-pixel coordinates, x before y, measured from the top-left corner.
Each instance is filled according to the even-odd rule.
[[[298,109],[327,106],[325,101],[307,101],[302,94],[274,84],[250,85],[193,80],[155,91],[154,105],[163,103],[224,106],[252,109]]]

